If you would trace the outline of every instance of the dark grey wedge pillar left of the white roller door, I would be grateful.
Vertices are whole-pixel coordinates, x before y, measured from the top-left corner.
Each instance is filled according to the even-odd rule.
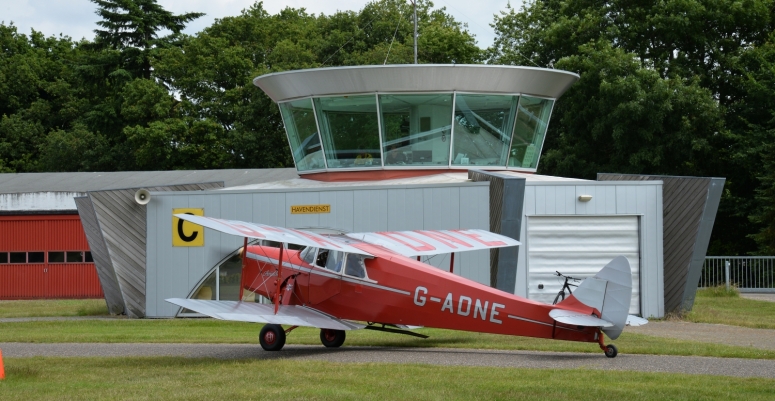
[[[472,181],[490,182],[490,231],[519,241],[525,201],[525,178],[470,170]],[[490,250],[490,285],[514,293],[519,246]]]

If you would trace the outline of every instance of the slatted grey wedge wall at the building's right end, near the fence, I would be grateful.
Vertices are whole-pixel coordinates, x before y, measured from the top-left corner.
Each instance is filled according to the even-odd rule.
[[[602,173],[597,178],[663,182],[665,312],[691,310],[724,179]]]

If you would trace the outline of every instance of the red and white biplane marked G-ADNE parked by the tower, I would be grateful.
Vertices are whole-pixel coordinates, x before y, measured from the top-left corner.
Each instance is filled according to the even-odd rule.
[[[264,224],[176,214],[183,220],[245,237],[243,290],[271,304],[198,299],[167,299],[216,319],[266,323],[259,335],[268,351],[280,350],[298,326],[317,327],[326,347],[339,347],[348,330],[371,329],[426,337],[412,332],[435,327],[482,333],[598,343],[608,357],[617,349],[604,343],[625,325],[645,324],[628,315],[632,277],[619,256],[582,281],[564,301],[531,301],[419,261],[420,256],[452,254],[519,245],[485,230],[417,230],[321,235]],[[304,246],[248,246],[248,238]],[[450,264],[450,270],[453,264]],[[367,323],[364,323],[367,322]],[[283,329],[282,326],[288,326]]]

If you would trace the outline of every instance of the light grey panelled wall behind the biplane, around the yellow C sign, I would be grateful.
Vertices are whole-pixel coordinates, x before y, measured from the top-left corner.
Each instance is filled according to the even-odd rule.
[[[415,229],[489,229],[486,182],[431,186],[208,191],[153,194],[148,211],[146,316],[174,316],[165,298],[186,297],[242,238],[206,230],[204,247],[172,247],[172,209],[204,208],[206,216],[281,227],[333,228],[348,232]],[[292,205],[330,204],[331,213],[292,215]],[[449,255],[429,263],[449,269]],[[489,284],[489,251],[455,256],[455,274]]]

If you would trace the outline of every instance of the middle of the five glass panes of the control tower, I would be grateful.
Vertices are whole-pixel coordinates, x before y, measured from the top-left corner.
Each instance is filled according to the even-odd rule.
[[[380,95],[386,166],[448,165],[452,94]]]

